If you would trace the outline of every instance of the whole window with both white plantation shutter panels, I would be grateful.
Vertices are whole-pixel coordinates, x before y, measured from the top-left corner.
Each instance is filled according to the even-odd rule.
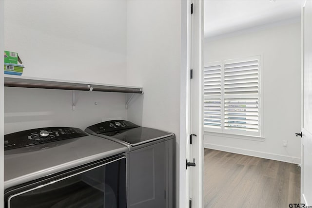
[[[204,68],[205,131],[260,136],[260,57]]]

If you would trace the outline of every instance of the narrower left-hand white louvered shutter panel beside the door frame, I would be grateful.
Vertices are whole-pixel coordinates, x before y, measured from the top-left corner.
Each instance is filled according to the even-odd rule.
[[[221,65],[204,68],[204,125],[221,129]]]

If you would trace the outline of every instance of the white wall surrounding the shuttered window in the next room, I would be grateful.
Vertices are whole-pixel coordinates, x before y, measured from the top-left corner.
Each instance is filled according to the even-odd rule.
[[[301,24],[205,40],[205,63],[261,55],[265,141],[205,135],[205,147],[300,163]],[[288,146],[283,147],[283,140]]]

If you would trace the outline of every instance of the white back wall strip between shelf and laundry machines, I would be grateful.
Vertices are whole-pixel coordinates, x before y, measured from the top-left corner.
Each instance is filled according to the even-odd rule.
[[[127,120],[124,94],[84,91],[75,94],[77,104],[73,111],[72,91],[6,87],[4,133],[50,126],[84,130],[104,120]]]

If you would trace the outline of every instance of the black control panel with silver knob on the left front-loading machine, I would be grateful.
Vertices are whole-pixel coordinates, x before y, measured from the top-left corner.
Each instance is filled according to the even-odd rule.
[[[81,129],[72,127],[46,127],[25,130],[4,135],[4,150],[27,147],[62,139],[72,139],[87,136]]]

